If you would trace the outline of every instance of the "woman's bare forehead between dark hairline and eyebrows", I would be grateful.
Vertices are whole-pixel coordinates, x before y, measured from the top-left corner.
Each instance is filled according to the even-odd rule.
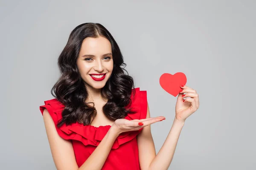
[[[81,45],[80,55],[92,54],[102,55],[111,53],[111,43],[105,37],[87,37],[84,39]]]

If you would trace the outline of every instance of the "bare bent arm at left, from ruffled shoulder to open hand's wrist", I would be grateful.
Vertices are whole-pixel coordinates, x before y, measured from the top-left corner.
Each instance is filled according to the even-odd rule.
[[[114,126],[110,128],[108,133],[102,139],[100,144],[96,147],[89,158],[78,167],[73,150],[72,143],[68,140],[62,139],[56,130],[54,122],[49,115],[47,109],[44,109],[44,124],[49,140],[49,145],[52,152],[52,157],[55,162],[57,170],[101,170],[108,154],[115,142],[119,131]]]

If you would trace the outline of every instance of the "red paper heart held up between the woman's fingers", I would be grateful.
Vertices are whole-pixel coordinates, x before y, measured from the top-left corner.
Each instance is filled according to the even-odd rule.
[[[186,85],[186,80],[186,75],[181,72],[175,73],[174,75],[164,73],[159,79],[161,87],[175,97],[180,93],[180,90],[182,90],[180,85]]]

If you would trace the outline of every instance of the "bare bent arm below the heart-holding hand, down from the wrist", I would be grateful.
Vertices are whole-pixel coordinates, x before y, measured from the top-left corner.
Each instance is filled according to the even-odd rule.
[[[150,117],[149,107],[146,117]],[[183,122],[179,122],[176,119],[174,120],[174,123],[172,124],[172,128],[166,138],[166,141],[164,142],[157,155],[155,151],[154,141],[151,135],[150,126],[143,128],[141,133],[137,136],[141,170],[168,169],[169,165],[172,162],[177,141],[183,125]]]

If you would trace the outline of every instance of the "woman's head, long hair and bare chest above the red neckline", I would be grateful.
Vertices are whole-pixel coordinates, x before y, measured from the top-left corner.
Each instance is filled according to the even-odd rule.
[[[119,46],[104,26],[99,23],[77,26],[58,58],[61,77],[51,90],[65,105],[58,127],[64,123],[114,122],[134,113],[126,108],[131,105],[134,81],[125,74],[123,65]]]

